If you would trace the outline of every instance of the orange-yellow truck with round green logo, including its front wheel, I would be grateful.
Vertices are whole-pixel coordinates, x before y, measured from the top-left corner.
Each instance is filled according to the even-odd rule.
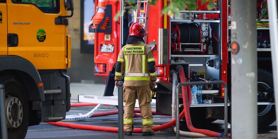
[[[71,11],[71,15],[67,15]],[[70,110],[73,0],[0,0],[0,84],[9,138],[28,126],[65,119]]]

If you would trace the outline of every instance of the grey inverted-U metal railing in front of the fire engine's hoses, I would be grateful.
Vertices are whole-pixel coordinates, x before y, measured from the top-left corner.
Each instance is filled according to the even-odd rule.
[[[176,87],[176,138],[179,139],[179,88],[186,85],[204,85],[204,84],[222,84],[224,86],[224,132],[228,134],[228,95],[227,85],[223,81],[206,81],[206,82],[181,82]],[[187,92],[191,93],[191,92]],[[189,103],[189,102],[188,102]]]

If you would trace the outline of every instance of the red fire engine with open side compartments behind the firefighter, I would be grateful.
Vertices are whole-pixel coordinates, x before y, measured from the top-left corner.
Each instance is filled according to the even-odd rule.
[[[105,96],[112,96],[114,64],[125,45],[129,24],[133,22],[143,24],[148,31],[144,40],[152,48],[156,62],[158,80],[153,92],[158,113],[171,114],[173,88],[170,71],[178,65],[183,66],[185,76],[190,81],[226,82],[228,96],[231,96],[230,0],[212,0],[215,6],[211,9],[197,0],[196,11],[184,9],[171,17],[161,13],[169,4],[167,0],[157,0],[156,5],[138,1],[138,10],[128,9],[128,6],[124,7],[122,2],[116,0],[105,0],[105,5],[97,7],[100,1],[103,2],[95,1],[96,15],[89,32],[95,33],[95,75],[106,80]],[[263,16],[264,4],[265,1],[258,0],[258,45],[254,46],[258,50],[259,127],[276,120],[269,28],[267,17]],[[114,21],[118,11],[123,11],[123,16]],[[191,105],[192,120],[212,122],[223,119],[223,86],[203,86],[202,94],[203,99],[210,99],[213,103]],[[183,107],[182,104],[180,107]]]

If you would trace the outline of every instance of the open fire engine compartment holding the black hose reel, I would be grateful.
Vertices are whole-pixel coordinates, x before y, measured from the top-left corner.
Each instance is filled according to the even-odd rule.
[[[221,80],[220,5],[217,1],[211,11],[184,10],[170,18],[170,69],[188,65],[190,81]],[[218,95],[220,87],[204,86],[205,94]]]

